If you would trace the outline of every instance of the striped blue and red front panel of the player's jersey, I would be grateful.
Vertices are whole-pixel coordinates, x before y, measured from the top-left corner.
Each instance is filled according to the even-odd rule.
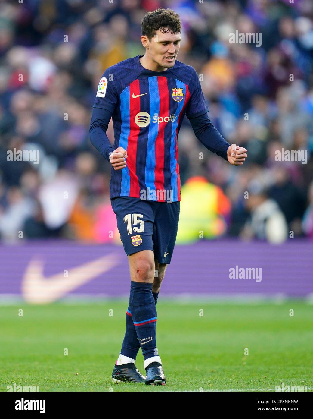
[[[184,97],[172,99],[172,88],[182,88]],[[142,93],[147,95],[140,96]],[[133,98],[134,96],[138,96]],[[188,85],[164,76],[134,80],[121,93],[121,128],[119,145],[128,152],[126,168],[121,170],[120,196],[140,197],[142,189],[156,192],[172,190],[174,200],[180,200],[177,135],[190,99]],[[135,116],[149,109],[151,122],[148,133],[138,127]],[[169,117],[169,122],[153,122],[153,117]],[[164,201],[164,199],[158,199]],[[167,198],[165,196],[165,198]]]

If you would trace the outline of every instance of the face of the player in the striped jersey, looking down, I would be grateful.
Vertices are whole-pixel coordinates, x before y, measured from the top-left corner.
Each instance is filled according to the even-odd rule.
[[[180,34],[171,34],[171,32],[164,34],[161,31],[156,31],[151,40],[147,40],[148,52],[152,61],[160,67],[173,67],[180,49],[180,39]]]

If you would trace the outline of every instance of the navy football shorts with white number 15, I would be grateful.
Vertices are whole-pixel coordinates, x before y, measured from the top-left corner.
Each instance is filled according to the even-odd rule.
[[[159,263],[169,264],[176,241],[180,201],[167,204],[117,197],[111,199],[111,205],[126,255],[152,250]]]

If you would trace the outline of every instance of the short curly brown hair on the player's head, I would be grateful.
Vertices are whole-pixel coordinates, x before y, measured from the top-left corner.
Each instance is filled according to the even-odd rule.
[[[149,41],[158,30],[164,34],[166,32],[180,34],[181,28],[179,15],[170,9],[156,9],[148,12],[141,22],[141,33],[146,35]]]

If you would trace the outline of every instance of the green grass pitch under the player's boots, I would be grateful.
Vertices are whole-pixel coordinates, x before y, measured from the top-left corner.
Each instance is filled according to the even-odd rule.
[[[39,391],[274,391],[281,383],[313,390],[312,305],[179,303],[161,296],[156,331],[165,386],[111,380],[126,308],[114,300],[0,306],[0,391],[13,383]],[[141,352],[136,365],[144,373]]]

